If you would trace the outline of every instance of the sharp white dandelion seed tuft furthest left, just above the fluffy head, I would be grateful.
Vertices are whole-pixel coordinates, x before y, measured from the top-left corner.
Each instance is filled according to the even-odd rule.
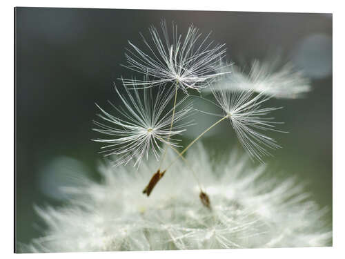
[[[174,125],[170,130],[172,109],[168,109],[167,106],[174,94],[172,90],[159,86],[155,97],[152,96],[151,89],[139,90],[135,86],[129,90],[126,84],[124,84],[126,95],[121,94],[116,86],[115,90],[124,107],[117,108],[113,104],[112,107],[124,119],[111,115],[97,105],[101,111],[99,117],[104,122],[95,121],[94,123],[99,128],[93,130],[111,136],[110,139],[94,140],[108,144],[101,147],[104,149],[101,153],[104,153],[105,156],[118,155],[119,158],[114,162],[115,165],[127,164],[130,160],[135,160],[135,166],[139,166],[141,159],[145,156],[147,158],[150,151],[158,160],[162,149],[161,144],[169,143],[172,146],[177,146],[177,140],[173,136],[184,132],[185,127],[190,124],[190,122],[179,122],[188,116],[192,109],[191,104],[175,113]],[[141,99],[139,91],[144,95],[144,100]],[[185,99],[181,99],[176,107],[180,106]]]

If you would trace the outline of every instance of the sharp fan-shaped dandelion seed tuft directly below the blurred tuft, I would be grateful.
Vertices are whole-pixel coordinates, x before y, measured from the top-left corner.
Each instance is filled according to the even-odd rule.
[[[241,92],[213,90],[213,95],[219,108],[223,109],[224,116],[230,119],[239,141],[250,157],[263,162],[264,155],[271,155],[268,148],[280,148],[273,138],[257,131],[278,131],[275,129],[275,124],[281,124],[281,122],[273,122],[273,117],[264,117],[271,111],[282,108],[262,108],[262,104],[268,101],[270,96],[265,96],[264,93],[253,96],[253,91],[250,90]]]

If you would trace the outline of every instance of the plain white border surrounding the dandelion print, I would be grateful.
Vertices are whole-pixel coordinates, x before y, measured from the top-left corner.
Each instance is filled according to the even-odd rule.
[[[341,1],[2,1],[1,19],[1,225],[0,253],[16,256],[14,249],[14,6],[65,8],[123,8],[164,10],[224,10],[253,12],[327,12],[333,13],[333,247],[297,249],[227,249],[195,251],[146,251],[108,253],[63,253],[65,258],[340,258],[345,254],[344,229],[344,17]],[[3,79],[4,78],[4,79]],[[320,118],[322,119],[322,118]],[[28,258],[60,258],[61,253],[18,255]],[[2,256],[1,256],[2,257]]]

